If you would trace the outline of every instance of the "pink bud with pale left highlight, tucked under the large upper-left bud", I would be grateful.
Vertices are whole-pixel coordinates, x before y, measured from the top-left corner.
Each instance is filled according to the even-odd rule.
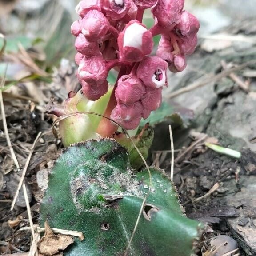
[[[100,54],[99,44],[96,41],[88,41],[83,34],[76,37],[75,48],[77,52],[85,56],[96,56]]]

